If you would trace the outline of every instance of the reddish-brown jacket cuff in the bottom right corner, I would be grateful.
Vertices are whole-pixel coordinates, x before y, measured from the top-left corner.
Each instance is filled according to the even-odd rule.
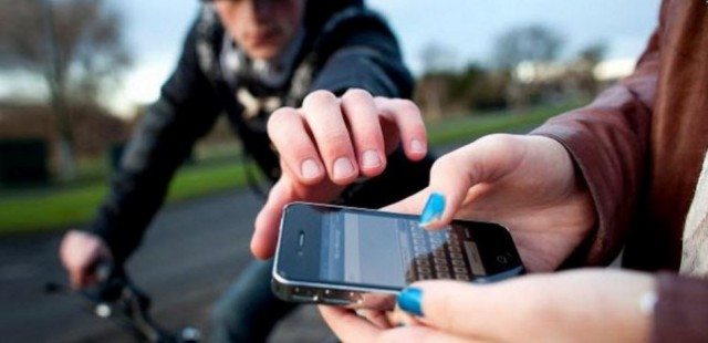
[[[658,274],[652,342],[708,342],[708,280]]]

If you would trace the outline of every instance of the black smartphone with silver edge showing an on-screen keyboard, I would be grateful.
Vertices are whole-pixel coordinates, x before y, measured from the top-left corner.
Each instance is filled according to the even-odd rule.
[[[284,208],[272,289],[285,301],[391,310],[406,285],[428,279],[493,282],[524,268],[509,231],[455,220],[441,230],[419,217],[293,202]]]

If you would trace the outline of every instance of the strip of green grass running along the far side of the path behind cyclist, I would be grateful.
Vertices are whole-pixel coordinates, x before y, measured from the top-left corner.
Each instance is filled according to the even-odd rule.
[[[430,145],[444,145],[471,141],[489,133],[528,129],[575,105],[545,106],[522,114],[499,112],[446,118],[428,123],[428,138]],[[233,150],[219,149],[211,155],[219,157],[221,162],[187,166],[177,174],[170,185],[168,201],[196,198],[246,185],[243,165],[237,158],[227,159],[227,163],[221,158]],[[100,163],[90,167],[93,173],[88,174],[97,174],[100,172],[95,170],[101,168],[105,170]],[[4,199],[0,198],[0,233],[58,230],[81,225],[95,215],[106,193],[107,183],[96,178],[71,187],[12,191]]]

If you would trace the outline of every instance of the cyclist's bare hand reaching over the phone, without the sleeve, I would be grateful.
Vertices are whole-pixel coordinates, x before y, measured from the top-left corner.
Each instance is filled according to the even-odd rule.
[[[317,91],[301,108],[280,108],[268,122],[282,176],[256,219],[251,250],[273,254],[282,208],[296,200],[327,202],[360,177],[386,168],[386,157],[400,144],[410,160],[427,154],[420,112],[410,101],[373,97],[350,90],[341,98]]]

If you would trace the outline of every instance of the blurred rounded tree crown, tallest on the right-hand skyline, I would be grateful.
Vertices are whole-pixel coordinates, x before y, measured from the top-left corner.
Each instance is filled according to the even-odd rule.
[[[502,69],[513,69],[523,61],[549,62],[558,58],[563,39],[541,24],[512,28],[494,43],[494,62]]]

